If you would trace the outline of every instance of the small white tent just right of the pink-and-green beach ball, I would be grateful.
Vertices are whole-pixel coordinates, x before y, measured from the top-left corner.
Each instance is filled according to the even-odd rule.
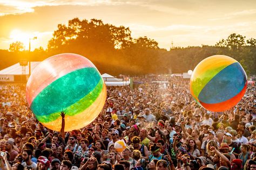
[[[110,74],[102,74],[102,78],[105,81],[106,86],[129,86],[130,79],[125,81],[123,78],[117,78]]]

